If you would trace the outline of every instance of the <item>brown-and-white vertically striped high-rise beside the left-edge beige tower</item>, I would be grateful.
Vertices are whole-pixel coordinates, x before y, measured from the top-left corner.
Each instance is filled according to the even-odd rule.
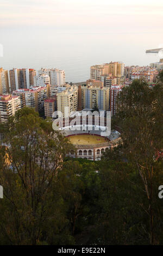
[[[10,92],[14,90],[25,88],[29,89],[34,86],[34,76],[36,71],[34,69],[12,69],[9,70],[9,87]]]

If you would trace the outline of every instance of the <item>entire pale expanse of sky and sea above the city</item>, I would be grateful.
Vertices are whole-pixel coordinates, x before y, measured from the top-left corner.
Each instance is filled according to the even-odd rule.
[[[64,69],[67,82],[82,82],[91,65],[159,61],[145,51],[163,43],[162,1],[110,2],[2,0],[0,66]]]

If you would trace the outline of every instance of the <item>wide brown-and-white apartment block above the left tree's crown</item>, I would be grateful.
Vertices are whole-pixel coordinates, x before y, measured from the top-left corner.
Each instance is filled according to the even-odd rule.
[[[21,107],[33,107],[35,111],[40,111],[44,106],[44,101],[48,98],[47,86],[33,87],[32,89],[17,89],[12,94],[20,96]]]

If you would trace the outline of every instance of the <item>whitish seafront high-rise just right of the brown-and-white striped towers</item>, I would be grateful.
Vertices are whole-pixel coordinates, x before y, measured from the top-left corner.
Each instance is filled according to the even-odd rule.
[[[48,75],[50,77],[51,86],[62,86],[65,84],[65,71],[59,69],[41,69],[39,74]]]

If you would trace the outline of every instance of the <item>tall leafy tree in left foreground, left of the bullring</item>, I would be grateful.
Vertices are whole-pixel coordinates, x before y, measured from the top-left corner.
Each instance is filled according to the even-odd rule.
[[[51,226],[55,221],[54,233],[66,224],[55,187],[62,159],[71,144],[30,108],[18,111],[3,131],[0,233],[12,245],[36,245],[41,237],[47,239],[43,236],[50,229],[46,223]]]

